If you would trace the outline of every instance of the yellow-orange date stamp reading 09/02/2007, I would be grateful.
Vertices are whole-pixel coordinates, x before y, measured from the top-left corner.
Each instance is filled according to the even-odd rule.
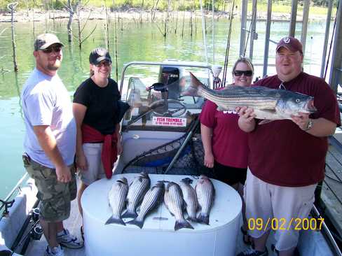
[[[266,221],[263,218],[249,218],[247,225],[249,230],[316,230],[322,229],[324,218],[268,218]]]

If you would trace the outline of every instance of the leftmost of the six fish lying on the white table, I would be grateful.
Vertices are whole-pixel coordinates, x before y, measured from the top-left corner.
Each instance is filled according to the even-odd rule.
[[[105,224],[117,223],[125,225],[125,222],[121,219],[121,213],[125,208],[125,201],[128,193],[128,183],[126,178],[120,178],[115,181],[111,186],[111,190],[108,193],[109,206],[113,215],[107,220]]]

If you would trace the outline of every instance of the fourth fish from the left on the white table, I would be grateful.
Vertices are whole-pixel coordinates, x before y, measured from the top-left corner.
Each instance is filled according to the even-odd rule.
[[[175,230],[188,228],[193,229],[191,224],[187,222],[183,215],[184,200],[182,197],[182,190],[177,183],[167,183],[164,202],[167,210],[175,217]]]

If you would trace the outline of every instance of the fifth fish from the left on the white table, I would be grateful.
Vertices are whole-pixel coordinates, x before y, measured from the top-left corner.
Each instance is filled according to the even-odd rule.
[[[188,213],[188,220],[197,222],[196,213],[198,208],[198,201],[195,189],[191,186],[193,180],[191,178],[184,178],[180,181],[179,187],[181,187],[183,199],[186,204],[186,212]]]

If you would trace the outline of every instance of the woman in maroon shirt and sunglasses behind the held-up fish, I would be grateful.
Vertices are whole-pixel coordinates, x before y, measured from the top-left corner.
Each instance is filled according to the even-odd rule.
[[[252,84],[254,67],[246,58],[238,59],[233,66],[233,85]],[[247,134],[238,127],[235,111],[217,111],[217,105],[207,101],[200,114],[200,131],[205,151],[204,164],[213,168],[214,178],[231,185],[241,196],[247,173]],[[245,204],[242,204],[244,225],[243,241],[250,243],[247,236]]]

